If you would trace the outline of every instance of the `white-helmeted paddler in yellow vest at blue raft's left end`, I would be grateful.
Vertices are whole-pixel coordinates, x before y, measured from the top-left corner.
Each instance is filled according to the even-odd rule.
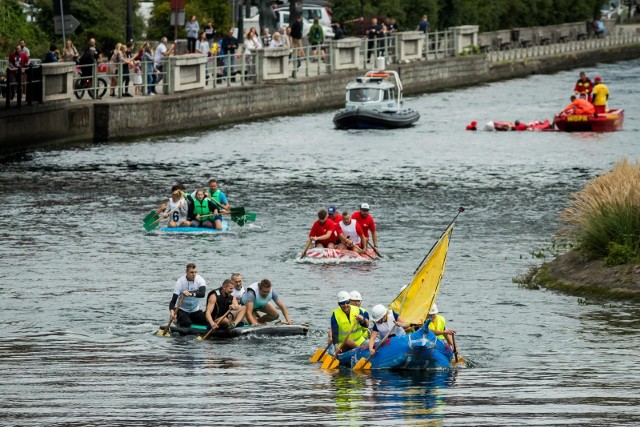
[[[338,308],[331,314],[331,341],[335,354],[338,355],[362,345],[366,341],[363,328],[368,327],[369,322],[364,317],[362,309],[351,305],[349,292],[339,292]]]

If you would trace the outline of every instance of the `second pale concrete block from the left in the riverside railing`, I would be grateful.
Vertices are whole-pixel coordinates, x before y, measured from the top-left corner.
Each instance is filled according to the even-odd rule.
[[[193,89],[204,89],[206,84],[207,55],[187,54],[167,58],[165,94]]]

